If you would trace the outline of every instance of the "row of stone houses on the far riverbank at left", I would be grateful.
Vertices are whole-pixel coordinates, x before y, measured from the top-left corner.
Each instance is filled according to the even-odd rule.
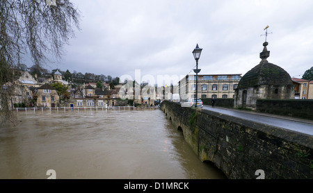
[[[56,88],[52,86],[52,83],[67,85],[67,97],[65,98],[62,94],[58,93]],[[12,92],[13,96],[10,98],[10,106],[12,107],[16,107],[16,104],[20,103],[24,103],[26,107],[43,108],[125,105],[125,101],[120,100],[118,97],[120,87],[111,90],[109,85],[104,84],[102,88],[97,88],[95,83],[72,87],[72,85],[62,80],[61,72],[58,70],[56,70],[49,80],[40,82],[29,74],[29,72],[24,72],[15,81],[14,88],[15,90]]]

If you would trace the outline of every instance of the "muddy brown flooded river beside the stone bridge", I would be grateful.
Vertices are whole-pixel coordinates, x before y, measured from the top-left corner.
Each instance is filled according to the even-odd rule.
[[[0,129],[0,178],[225,178],[161,110],[17,112]]]

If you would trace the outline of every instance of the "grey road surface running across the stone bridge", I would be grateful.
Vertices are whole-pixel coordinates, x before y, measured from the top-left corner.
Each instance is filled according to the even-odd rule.
[[[292,117],[282,117],[259,112],[246,112],[242,110],[233,110],[227,108],[203,106],[203,109],[219,112],[221,114],[247,119],[262,124],[277,126],[291,131],[297,131],[308,135],[313,135],[313,121],[306,119],[295,119]]]

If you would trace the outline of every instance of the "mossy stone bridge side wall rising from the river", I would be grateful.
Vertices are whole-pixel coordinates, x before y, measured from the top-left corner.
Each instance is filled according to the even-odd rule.
[[[161,110],[200,160],[228,178],[312,178],[313,137],[204,109],[163,101]]]

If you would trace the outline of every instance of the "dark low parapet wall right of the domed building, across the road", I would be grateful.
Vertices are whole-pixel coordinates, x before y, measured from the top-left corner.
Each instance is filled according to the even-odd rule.
[[[257,111],[313,120],[313,100],[257,99]]]

